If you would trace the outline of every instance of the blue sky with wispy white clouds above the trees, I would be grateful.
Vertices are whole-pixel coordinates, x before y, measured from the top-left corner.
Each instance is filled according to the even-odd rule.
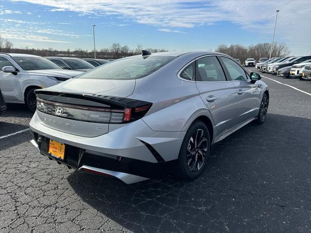
[[[276,42],[311,54],[310,0],[1,0],[0,34],[15,47],[214,50]]]

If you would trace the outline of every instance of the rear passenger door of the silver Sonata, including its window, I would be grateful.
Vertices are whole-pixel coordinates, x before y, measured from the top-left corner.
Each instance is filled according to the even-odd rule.
[[[213,117],[218,136],[226,133],[235,125],[237,93],[217,56],[207,55],[196,59],[195,82],[201,99]]]

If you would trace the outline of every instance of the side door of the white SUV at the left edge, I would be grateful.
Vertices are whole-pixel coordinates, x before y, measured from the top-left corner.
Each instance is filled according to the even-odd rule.
[[[6,73],[2,71],[2,67],[14,67],[16,70],[16,66],[4,56],[0,56],[0,87],[2,94],[6,101],[20,101],[21,93],[20,93],[20,85],[19,78],[20,73]]]

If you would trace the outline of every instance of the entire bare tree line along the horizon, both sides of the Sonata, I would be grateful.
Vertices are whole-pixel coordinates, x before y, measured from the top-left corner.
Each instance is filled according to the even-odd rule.
[[[96,50],[96,58],[101,59],[119,59],[122,57],[133,56],[141,54],[141,50],[148,50],[150,52],[164,52],[166,49],[153,49],[143,48],[142,45],[137,45],[136,48],[130,49],[128,46],[121,46],[120,43],[114,43],[108,48]],[[260,57],[269,58],[271,49],[271,43],[259,43],[257,45],[250,45],[248,47],[236,44],[227,46],[221,44],[215,50],[216,52],[225,53],[233,58],[240,59],[241,63],[247,58],[254,58],[259,60]],[[82,50],[80,48],[75,50],[54,50],[53,48],[48,49],[31,49],[25,48],[14,48],[13,43],[7,39],[0,37],[0,52],[12,52],[12,53],[27,53],[40,56],[72,56],[78,58],[93,58],[94,50]],[[284,43],[274,43],[272,47],[271,57],[285,57],[290,54],[288,46]]]

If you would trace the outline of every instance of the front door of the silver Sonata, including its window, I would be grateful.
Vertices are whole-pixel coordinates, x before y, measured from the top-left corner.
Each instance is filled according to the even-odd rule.
[[[221,56],[221,61],[235,86],[239,101],[236,108],[237,123],[240,124],[258,115],[260,106],[260,89],[251,82],[248,73],[234,60]]]

